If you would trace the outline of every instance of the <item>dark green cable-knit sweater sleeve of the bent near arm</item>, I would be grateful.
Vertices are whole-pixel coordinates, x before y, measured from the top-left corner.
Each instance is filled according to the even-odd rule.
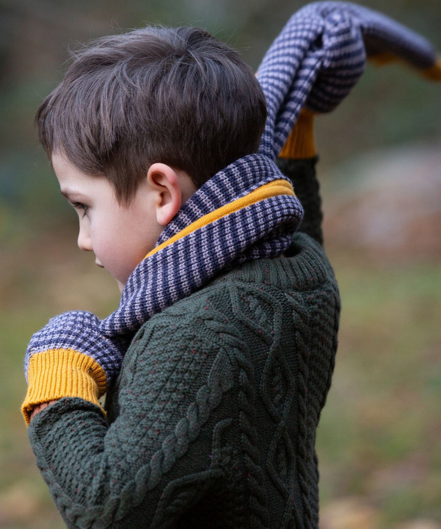
[[[209,306],[200,315],[176,307],[132,342],[111,425],[80,398],[60,399],[30,424],[38,467],[68,527],[174,526],[221,487],[246,344]]]

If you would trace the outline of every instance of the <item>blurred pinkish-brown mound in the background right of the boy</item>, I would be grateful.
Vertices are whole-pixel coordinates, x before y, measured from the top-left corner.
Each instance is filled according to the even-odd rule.
[[[328,245],[441,260],[441,144],[374,152],[332,171],[323,210]]]

